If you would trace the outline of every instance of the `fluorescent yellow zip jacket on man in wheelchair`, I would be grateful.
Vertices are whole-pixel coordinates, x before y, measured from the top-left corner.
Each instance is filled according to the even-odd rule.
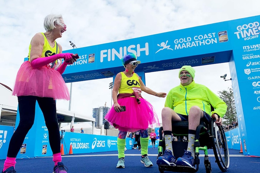
[[[212,112],[210,104],[214,107]],[[200,107],[210,116],[217,113],[220,117],[223,117],[227,111],[227,105],[223,100],[206,86],[195,84],[194,81],[187,86],[180,84],[172,88],[167,94],[164,106],[182,115],[188,115],[192,106]]]

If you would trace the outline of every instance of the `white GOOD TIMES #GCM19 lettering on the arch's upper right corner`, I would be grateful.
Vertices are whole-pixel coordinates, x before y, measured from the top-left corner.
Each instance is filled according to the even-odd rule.
[[[239,25],[236,27],[237,32],[236,34],[237,39],[240,39],[240,36],[244,38],[244,40],[250,40],[258,38],[260,25],[259,22],[253,22],[248,24]]]

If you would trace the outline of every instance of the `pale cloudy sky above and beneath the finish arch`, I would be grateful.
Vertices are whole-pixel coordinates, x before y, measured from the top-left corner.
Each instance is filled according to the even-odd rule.
[[[44,3],[0,0],[0,82],[13,88],[16,73],[28,55],[31,38],[37,32],[45,32],[43,18],[51,13],[63,15],[67,31],[57,42],[63,50],[68,50],[69,41],[82,48],[256,16],[259,5],[255,0],[45,0]],[[220,78],[225,73],[230,78],[228,63],[197,66],[195,70],[195,82],[208,86],[216,94],[231,87],[230,81]],[[146,73],[146,86],[168,93],[179,85],[177,74],[178,70]],[[110,107],[112,81],[106,78],[73,83],[71,111],[92,116],[92,108],[105,103]],[[154,105],[161,122],[165,98],[146,93],[143,97]],[[58,100],[57,107],[68,110],[69,101]]]

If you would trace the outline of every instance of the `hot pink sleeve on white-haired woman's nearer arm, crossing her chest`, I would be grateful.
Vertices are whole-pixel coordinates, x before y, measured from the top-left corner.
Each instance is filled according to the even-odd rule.
[[[35,58],[30,63],[31,63],[31,66],[35,69],[35,68],[39,68],[42,66],[46,66],[47,64],[52,63],[53,61],[55,61],[59,58],[63,58],[65,61],[69,61],[69,60],[71,60],[72,55],[73,54],[71,54],[71,53],[55,54],[50,57]]]

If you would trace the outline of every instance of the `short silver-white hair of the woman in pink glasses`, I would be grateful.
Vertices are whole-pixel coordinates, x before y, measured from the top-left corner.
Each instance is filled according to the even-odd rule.
[[[56,28],[54,26],[54,24],[56,24],[56,23],[58,25],[64,27],[64,23],[61,23],[60,19],[63,19],[61,14],[58,14],[58,15],[49,14],[48,16],[46,16],[44,18],[44,22],[43,22],[43,27],[46,30],[46,32],[51,31],[52,29]]]

